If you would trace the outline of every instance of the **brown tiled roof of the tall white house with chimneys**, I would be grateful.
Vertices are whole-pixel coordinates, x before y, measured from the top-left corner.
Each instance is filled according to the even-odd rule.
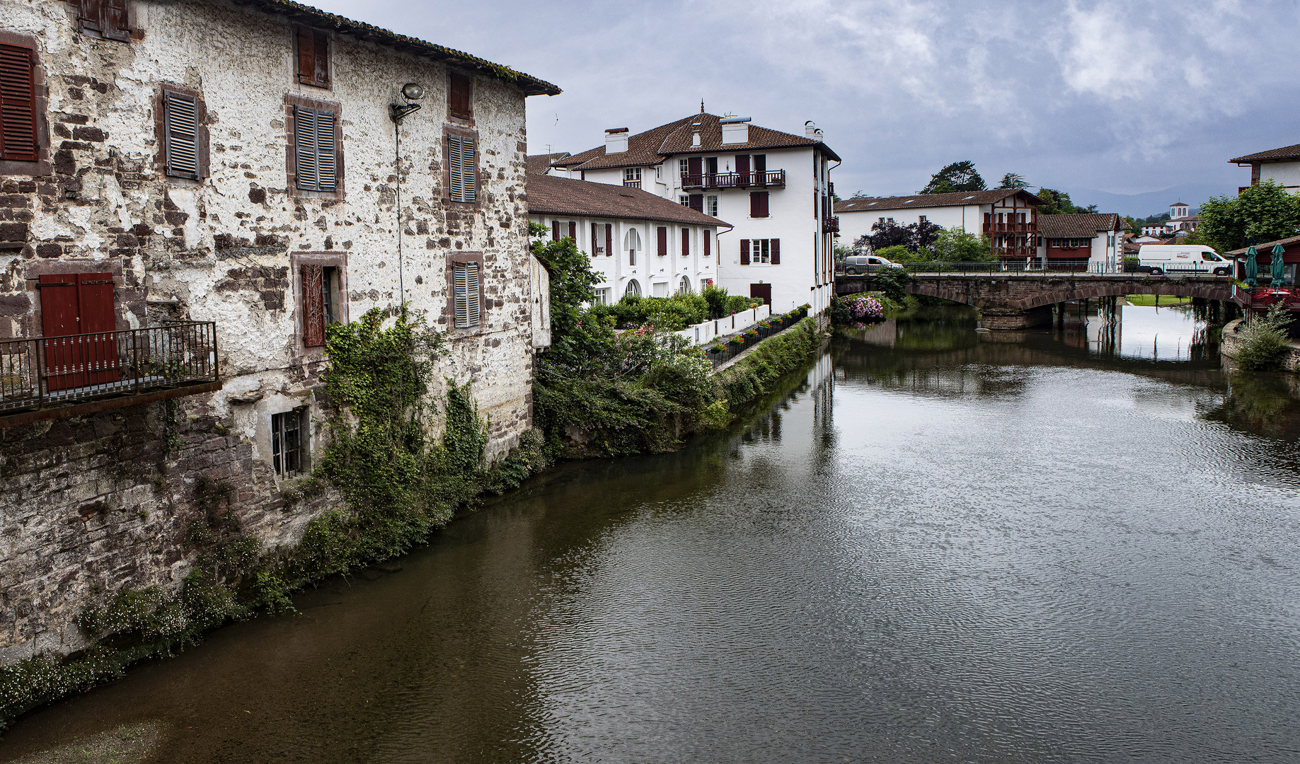
[[[692,146],[694,125],[699,123],[699,146]],[[619,153],[604,152],[604,147],[597,147],[582,153],[576,153],[563,162],[575,170],[597,170],[603,168],[632,168],[656,165],[664,157],[676,153],[719,153],[731,151],[760,151],[764,148],[798,148],[819,146],[833,160],[838,161],[828,146],[820,140],[812,140],[801,135],[780,133],[758,125],[749,125],[749,140],[746,143],[728,143],[723,146],[723,130],[716,114],[692,114],[667,125],[660,125],[645,133],[636,133],[628,136],[628,151]]]

